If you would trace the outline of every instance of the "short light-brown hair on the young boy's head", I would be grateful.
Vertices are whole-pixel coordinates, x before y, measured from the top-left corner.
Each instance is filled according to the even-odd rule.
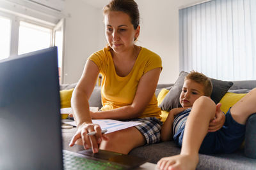
[[[196,83],[204,85],[204,95],[211,96],[212,94],[212,81],[205,74],[198,73],[196,71],[190,71],[190,73],[185,77],[185,80],[193,80]]]

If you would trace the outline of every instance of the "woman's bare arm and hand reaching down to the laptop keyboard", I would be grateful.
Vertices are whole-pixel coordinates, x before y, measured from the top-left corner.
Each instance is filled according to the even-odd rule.
[[[100,126],[92,124],[88,103],[98,74],[99,67],[92,60],[87,60],[81,79],[77,83],[71,98],[72,113],[77,124],[77,132],[69,145],[73,146],[77,141],[84,146],[84,149],[92,148],[93,152],[98,152],[98,145],[104,138],[104,135],[101,134]],[[93,131],[97,132],[94,136],[87,135],[88,132]]]

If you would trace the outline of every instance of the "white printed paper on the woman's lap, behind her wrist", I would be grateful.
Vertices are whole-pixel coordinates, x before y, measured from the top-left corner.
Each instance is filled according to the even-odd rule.
[[[141,124],[138,122],[122,122],[112,119],[93,119],[92,122],[93,124],[99,124],[101,129],[107,129],[106,134]],[[76,126],[75,122],[66,122],[65,124]]]

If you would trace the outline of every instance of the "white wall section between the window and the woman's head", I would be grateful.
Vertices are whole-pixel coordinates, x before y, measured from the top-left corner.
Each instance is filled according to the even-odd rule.
[[[76,3],[75,3],[76,2]],[[64,83],[75,83],[83,73],[86,59],[99,47],[101,11],[81,0],[65,1]],[[103,35],[104,36],[104,35]]]

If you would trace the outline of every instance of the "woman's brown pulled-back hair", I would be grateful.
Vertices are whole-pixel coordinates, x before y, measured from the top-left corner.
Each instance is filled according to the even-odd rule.
[[[103,8],[104,14],[108,11],[122,11],[129,15],[134,29],[140,25],[140,12],[138,4],[134,0],[112,0]]]

